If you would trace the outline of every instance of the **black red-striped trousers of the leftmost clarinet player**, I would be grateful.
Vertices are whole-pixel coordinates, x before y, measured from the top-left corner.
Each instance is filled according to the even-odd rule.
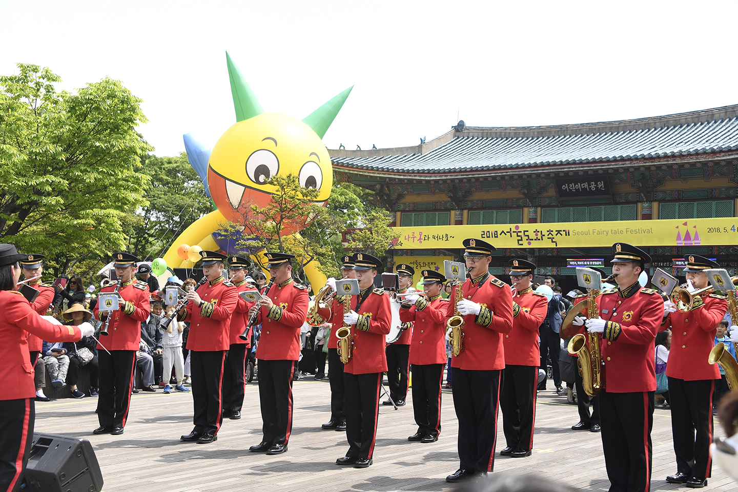
[[[124,427],[131,406],[136,350],[97,351],[100,366],[100,396],[97,420],[100,426]]]

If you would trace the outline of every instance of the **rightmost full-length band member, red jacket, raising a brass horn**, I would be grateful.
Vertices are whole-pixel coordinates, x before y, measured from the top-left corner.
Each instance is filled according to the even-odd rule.
[[[688,254],[684,260],[687,281],[692,282],[694,289],[709,285],[707,268],[720,268],[697,254]],[[669,301],[665,306],[668,312],[661,330],[672,329],[666,376],[677,457],[677,473],[666,477],[666,482],[703,488],[712,475],[712,395],[715,380],[720,379],[717,364],[708,364],[707,357],[714,346],[717,323],[728,311],[728,302],[720,294],[701,294],[694,297],[689,312],[676,311]]]

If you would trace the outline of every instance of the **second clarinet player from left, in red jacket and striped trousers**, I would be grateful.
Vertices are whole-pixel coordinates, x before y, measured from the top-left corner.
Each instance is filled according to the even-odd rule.
[[[187,305],[177,319],[190,322],[187,350],[190,350],[194,429],[180,437],[198,444],[218,440],[223,423],[221,383],[229,346],[230,319],[238,299],[238,289],[223,277],[225,255],[201,251],[202,273],[207,282],[187,293]]]

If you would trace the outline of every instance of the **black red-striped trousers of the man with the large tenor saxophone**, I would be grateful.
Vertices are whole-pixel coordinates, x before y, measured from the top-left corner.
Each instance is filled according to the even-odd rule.
[[[654,392],[598,395],[602,450],[610,492],[651,488],[651,429]]]

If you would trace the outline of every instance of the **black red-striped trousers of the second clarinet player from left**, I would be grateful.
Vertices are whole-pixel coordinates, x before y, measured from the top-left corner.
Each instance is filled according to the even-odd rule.
[[[226,350],[190,349],[195,432],[217,434],[223,423],[221,384],[226,353]]]

